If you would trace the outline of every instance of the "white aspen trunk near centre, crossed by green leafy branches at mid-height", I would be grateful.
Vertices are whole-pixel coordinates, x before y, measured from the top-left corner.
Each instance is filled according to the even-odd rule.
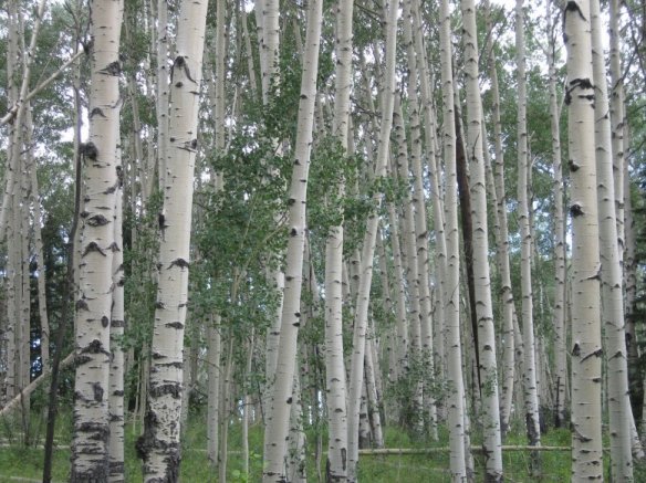
[[[336,7],[336,72],[334,80],[333,135],[347,154],[350,94],[352,87],[353,1],[338,0]],[[345,193],[342,180],[338,197]],[[325,240],[325,377],[329,418],[325,477],[343,482],[347,476],[347,401],[343,359],[343,223],[332,227]]]

